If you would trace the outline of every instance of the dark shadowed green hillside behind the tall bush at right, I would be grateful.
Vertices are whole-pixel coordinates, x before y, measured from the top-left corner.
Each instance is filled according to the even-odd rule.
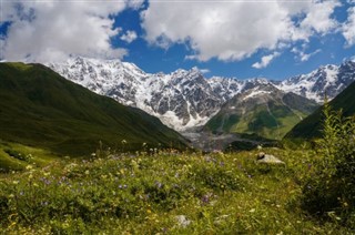
[[[347,86],[342,93],[334,98],[329,105],[333,110],[343,110],[344,116],[351,116],[355,113],[355,83]],[[310,116],[295,125],[285,139],[314,139],[322,135],[322,123],[324,116],[322,114],[323,106],[317,109]]]

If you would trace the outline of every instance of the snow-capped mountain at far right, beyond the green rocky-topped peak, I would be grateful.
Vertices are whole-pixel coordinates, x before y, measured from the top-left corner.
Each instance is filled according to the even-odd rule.
[[[294,92],[322,103],[325,94],[332,100],[354,81],[355,62],[346,61],[339,67],[328,64],[308,74],[293,76],[274,84],[285,92]]]

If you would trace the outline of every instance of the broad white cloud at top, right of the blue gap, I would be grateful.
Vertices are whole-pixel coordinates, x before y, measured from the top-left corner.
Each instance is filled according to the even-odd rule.
[[[159,47],[185,43],[186,59],[237,61],[334,31],[329,1],[151,1],[141,13],[145,39]],[[273,55],[275,57],[275,55]],[[267,65],[270,57],[260,67]]]

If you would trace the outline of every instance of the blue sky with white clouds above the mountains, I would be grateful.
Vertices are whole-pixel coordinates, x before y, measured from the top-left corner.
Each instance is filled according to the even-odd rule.
[[[355,1],[1,1],[0,59],[282,80],[355,55]]]

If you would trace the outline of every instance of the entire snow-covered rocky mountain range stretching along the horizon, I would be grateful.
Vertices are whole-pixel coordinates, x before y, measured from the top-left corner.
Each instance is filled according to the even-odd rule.
[[[333,99],[355,81],[354,61],[321,67],[308,74],[284,81],[206,79],[197,68],[189,71],[180,69],[169,74],[146,73],[133,63],[82,57],[45,65],[98,94],[139,108],[180,132],[203,126],[225,102],[245,92],[254,91],[256,95],[257,90],[273,86],[275,92],[293,92],[322,104],[325,93]],[[312,106],[313,102],[310,103]]]

